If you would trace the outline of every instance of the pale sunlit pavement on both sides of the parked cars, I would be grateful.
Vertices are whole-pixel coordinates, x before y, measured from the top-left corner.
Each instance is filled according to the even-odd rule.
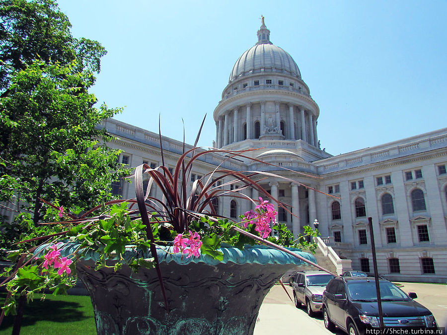
[[[403,291],[416,292],[416,301],[430,309],[440,326],[447,325],[447,286],[441,284],[402,283]],[[286,286],[291,297],[292,289]],[[254,335],[332,334],[346,335],[336,329],[324,328],[321,315],[310,318],[304,308],[297,309],[280,285],[275,285],[264,299],[259,310]]]

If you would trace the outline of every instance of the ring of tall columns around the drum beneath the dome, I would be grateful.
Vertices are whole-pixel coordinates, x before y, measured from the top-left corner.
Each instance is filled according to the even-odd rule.
[[[245,107],[245,120],[246,120],[246,139],[255,138],[254,123],[256,121],[260,122],[260,135],[263,135],[264,130],[268,128],[266,123],[266,113],[265,113],[265,100],[259,102],[261,107],[261,116],[259,119],[254,119],[252,113],[253,103],[249,102],[243,106],[237,106],[235,108],[224,111],[222,115],[219,116],[216,122],[216,140],[217,147],[221,148],[224,145],[228,145],[233,142],[238,142],[244,140],[242,122],[243,114],[239,113],[241,107]],[[275,123],[276,129],[280,133],[281,121],[286,123],[288,126],[289,134],[286,139],[302,139],[307,143],[318,147],[318,136],[317,136],[317,121],[316,116],[312,112],[305,110],[302,106],[298,106],[292,103],[287,103],[289,110],[287,115],[281,115],[280,104],[281,101],[275,101]],[[295,116],[295,107],[298,109],[298,115]],[[298,120],[299,125],[295,125],[295,120]],[[233,127],[231,131],[230,127]],[[267,126],[267,127],[266,127]],[[296,134],[295,127],[298,127],[298,134]],[[287,128],[286,128],[287,129]],[[286,129],[284,130],[286,132]],[[232,134],[230,138],[230,134]],[[287,134],[287,133],[286,133]]]

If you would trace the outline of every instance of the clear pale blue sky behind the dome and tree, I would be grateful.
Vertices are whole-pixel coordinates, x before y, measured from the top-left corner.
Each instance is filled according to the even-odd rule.
[[[60,0],[75,37],[107,49],[94,92],[116,118],[199,145],[261,14],[320,107],[321,147],[338,155],[447,127],[447,1]]]

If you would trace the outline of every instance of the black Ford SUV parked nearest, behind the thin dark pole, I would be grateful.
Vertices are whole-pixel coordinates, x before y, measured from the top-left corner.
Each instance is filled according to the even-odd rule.
[[[433,314],[392,282],[380,279],[383,324],[390,327],[437,327]],[[377,294],[373,277],[336,277],[323,292],[324,326],[338,326],[350,335],[363,335],[379,328]],[[391,334],[391,333],[390,333]]]

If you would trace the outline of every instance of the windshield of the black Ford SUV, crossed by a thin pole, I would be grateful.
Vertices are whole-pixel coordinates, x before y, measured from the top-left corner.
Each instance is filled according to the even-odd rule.
[[[349,281],[348,293],[352,301],[377,301],[375,281]],[[407,301],[410,298],[397,286],[389,281],[380,281],[381,301]]]

